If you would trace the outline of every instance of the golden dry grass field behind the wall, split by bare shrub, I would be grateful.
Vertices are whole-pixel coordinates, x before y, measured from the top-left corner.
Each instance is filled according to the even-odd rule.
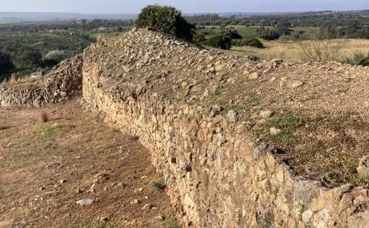
[[[309,41],[304,41],[309,42]],[[333,43],[340,43],[342,40],[333,40]],[[256,56],[260,59],[283,59],[287,62],[306,62],[309,59],[306,58],[303,49],[300,45],[293,41],[281,42],[281,41],[263,41],[265,49],[257,49],[252,47],[235,47],[232,48],[232,53],[243,54],[248,56]],[[343,47],[340,55],[337,56],[335,61],[341,61],[345,57],[350,57],[355,51],[361,51],[367,53],[369,51],[369,40],[366,39],[348,39],[347,43]]]

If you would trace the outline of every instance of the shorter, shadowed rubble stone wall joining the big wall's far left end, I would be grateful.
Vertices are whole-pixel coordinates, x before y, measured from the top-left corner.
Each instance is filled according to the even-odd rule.
[[[68,100],[82,91],[82,56],[56,65],[47,76],[26,79],[14,85],[0,85],[0,106],[40,107]]]

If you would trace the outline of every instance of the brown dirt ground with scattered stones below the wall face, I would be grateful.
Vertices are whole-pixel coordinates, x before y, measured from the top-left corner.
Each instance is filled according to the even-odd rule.
[[[0,228],[178,226],[137,137],[107,127],[78,99],[46,108],[48,122],[39,112],[0,108]]]

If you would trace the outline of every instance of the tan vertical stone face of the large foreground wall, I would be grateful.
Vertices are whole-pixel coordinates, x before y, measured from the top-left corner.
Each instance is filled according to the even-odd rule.
[[[180,105],[85,63],[83,97],[106,122],[138,135],[165,177],[184,227],[367,227],[369,192],[294,177],[245,123],[219,107]],[[120,84],[121,93],[112,91]]]

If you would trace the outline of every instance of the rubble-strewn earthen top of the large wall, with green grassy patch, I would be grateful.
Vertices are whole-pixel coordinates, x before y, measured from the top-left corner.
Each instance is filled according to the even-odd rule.
[[[149,94],[222,114],[276,148],[298,175],[332,186],[367,184],[355,168],[369,147],[368,67],[255,62],[150,29],[92,45],[84,62],[115,98]]]

